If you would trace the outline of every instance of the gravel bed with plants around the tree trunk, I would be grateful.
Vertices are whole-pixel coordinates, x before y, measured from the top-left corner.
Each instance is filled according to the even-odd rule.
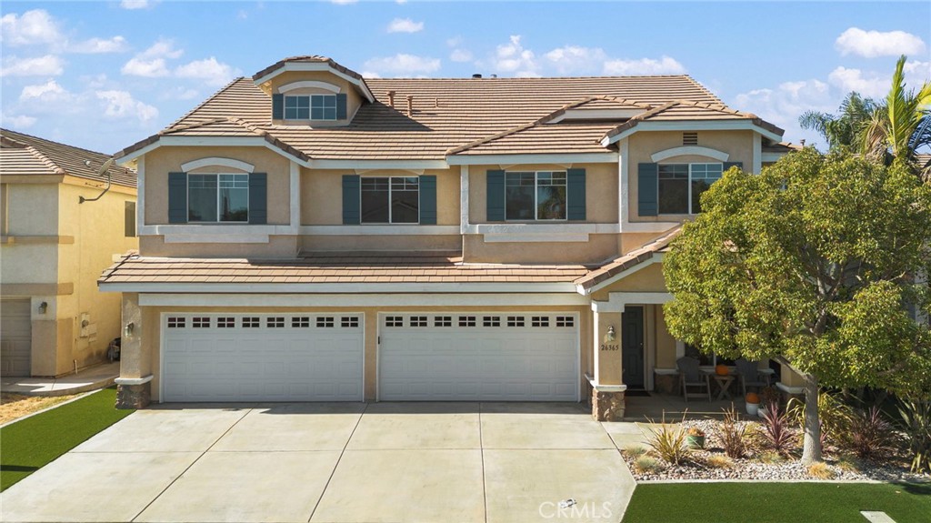
[[[706,434],[705,448],[693,449],[689,454],[689,462],[679,465],[670,465],[655,455],[652,449],[648,455],[655,458],[656,467],[652,471],[641,470],[637,466],[636,456],[625,449],[622,454],[630,472],[637,481],[668,481],[668,480],[695,480],[695,479],[756,479],[761,481],[793,481],[802,479],[819,479],[808,472],[808,468],[799,462],[801,456],[801,435],[799,447],[794,449],[789,458],[775,463],[772,452],[768,452],[762,441],[762,424],[759,422],[743,421],[748,427],[748,452],[741,459],[727,459],[718,437],[720,422],[714,420],[691,420],[681,423],[683,430],[697,427]],[[798,432],[798,431],[796,431]],[[723,465],[708,464],[723,461]],[[765,458],[767,461],[762,461]],[[904,455],[893,454],[884,463],[862,462],[852,457],[838,454],[836,449],[828,448],[824,454],[825,463],[830,471],[829,477],[821,479],[836,480],[879,480],[879,481],[931,481],[931,475],[916,475],[908,472],[908,459]]]

